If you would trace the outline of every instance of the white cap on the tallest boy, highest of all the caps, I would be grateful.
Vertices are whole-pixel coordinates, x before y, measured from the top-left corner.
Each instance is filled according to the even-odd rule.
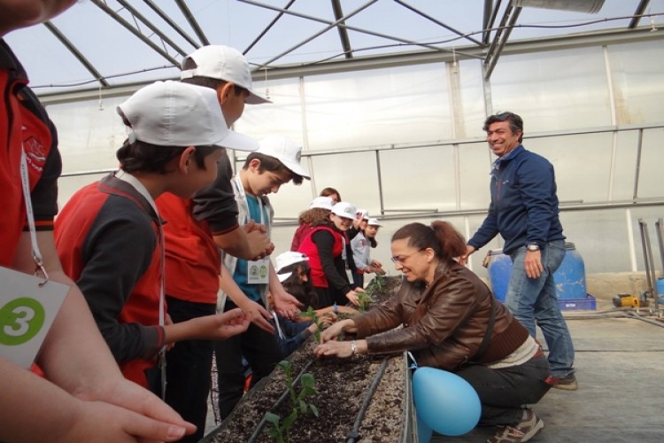
[[[260,97],[251,90],[251,70],[249,62],[240,51],[228,46],[213,44],[203,46],[190,53],[182,60],[182,66],[191,58],[196,63],[195,68],[182,71],[181,79],[191,77],[208,77],[211,79],[225,80],[241,88],[249,90],[249,97],[245,103],[249,105],[260,105],[261,103],[272,103],[270,100]]]

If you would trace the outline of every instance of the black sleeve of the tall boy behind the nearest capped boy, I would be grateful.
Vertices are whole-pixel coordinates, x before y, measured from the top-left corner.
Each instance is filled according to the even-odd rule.
[[[194,218],[207,221],[213,234],[223,234],[238,226],[232,177],[233,168],[224,152],[217,164],[217,178],[194,196]]]

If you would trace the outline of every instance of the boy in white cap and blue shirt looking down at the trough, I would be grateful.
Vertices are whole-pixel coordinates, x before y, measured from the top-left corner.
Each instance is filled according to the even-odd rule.
[[[295,184],[301,184],[303,179],[309,178],[309,173],[299,162],[301,151],[300,145],[284,137],[273,136],[261,140],[259,149],[247,156],[242,170],[232,181],[240,223],[255,221],[265,225],[267,236],[270,236],[274,210],[266,196],[278,192],[283,184],[291,180]],[[224,265],[243,293],[263,307],[268,306],[268,291],[274,299],[290,297],[290,294],[283,290],[269,258],[243,260],[226,254]],[[227,289],[224,282],[221,288]],[[229,298],[224,309],[235,306],[235,300]],[[217,359],[221,418],[228,416],[242,398],[243,357],[251,366],[252,385],[272,372],[276,363],[282,359],[274,334],[254,324],[233,340],[216,342],[214,352]]]

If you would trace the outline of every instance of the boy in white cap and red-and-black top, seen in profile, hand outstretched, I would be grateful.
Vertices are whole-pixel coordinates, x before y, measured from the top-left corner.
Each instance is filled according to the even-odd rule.
[[[251,147],[226,128],[210,89],[155,82],[118,106],[127,141],[120,170],[89,184],[55,223],[58,255],[128,379],[163,395],[158,355],[189,338],[224,339],[245,330],[239,309],[187,323],[165,319],[164,236],[154,199],[190,197],[216,175],[223,146]]]

